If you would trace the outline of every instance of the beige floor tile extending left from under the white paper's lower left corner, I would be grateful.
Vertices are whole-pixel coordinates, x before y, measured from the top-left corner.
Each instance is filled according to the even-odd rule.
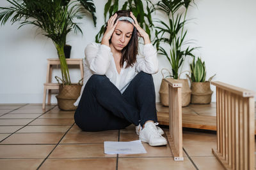
[[[104,154],[104,144],[58,145],[49,158],[104,158],[116,154]]]

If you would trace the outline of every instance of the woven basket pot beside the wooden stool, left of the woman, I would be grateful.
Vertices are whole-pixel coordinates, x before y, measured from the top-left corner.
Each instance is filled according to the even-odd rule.
[[[82,85],[72,84],[72,85],[63,85],[60,84],[59,94],[56,96],[58,101],[58,107],[60,110],[72,111],[76,110],[74,103],[77,98],[80,96]]]

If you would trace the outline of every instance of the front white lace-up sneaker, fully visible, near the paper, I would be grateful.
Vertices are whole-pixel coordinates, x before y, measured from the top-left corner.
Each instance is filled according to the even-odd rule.
[[[147,142],[150,146],[166,145],[166,139],[157,131],[156,124],[148,122],[145,127],[140,131],[140,140]]]

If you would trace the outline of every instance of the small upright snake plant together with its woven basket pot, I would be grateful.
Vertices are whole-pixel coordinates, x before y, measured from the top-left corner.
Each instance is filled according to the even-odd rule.
[[[208,81],[205,81],[206,70],[205,62],[202,62],[200,58],[190,64],[191,77],[191,103],[193,104],[209,104],[212,99],[212,90],[210,87],[210,82],[212,78],[216,75],[214,74],[209,78]]]

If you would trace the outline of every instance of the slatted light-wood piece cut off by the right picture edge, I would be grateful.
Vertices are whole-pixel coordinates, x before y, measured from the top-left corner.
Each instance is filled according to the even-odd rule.
[[[216,86],[217,150],[225,169],[254,169],[254,92],[220,81]]]

